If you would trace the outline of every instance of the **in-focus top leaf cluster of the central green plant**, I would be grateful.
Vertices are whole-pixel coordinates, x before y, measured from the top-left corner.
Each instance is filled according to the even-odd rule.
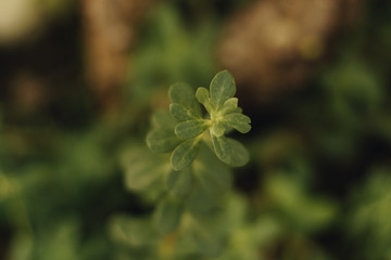
[[[241,133],[250,131],[250,118],[239,113],[234,77],[227,72],[218,73],[211,82],[210,91],[199,88],[193,90],[185,83],[169,88],[171,115],[178,120],[174,131],[157,127],[147,136],[147,144],[154,152],[171,152],[178,142],[175,135],[184,140],[172,154],[171,162],[175,170],[182,170],[191,165],[198,155],[200,142],[213,146],[216,156],[231,166],[243,166],[249,160],[249,153],[238,142],[224,134],[231,128]],[[207,115],[202,116],[200,103]],[[172,134],[172,133],[175,133]]]

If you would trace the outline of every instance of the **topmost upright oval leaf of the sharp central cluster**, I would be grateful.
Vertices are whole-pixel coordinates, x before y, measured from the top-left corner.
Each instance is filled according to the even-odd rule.
[[[224,102],[232,98],[236,92],[234,77],[227,70],[223,70],[211,81],[211,100],[216,110],[223,106]]]

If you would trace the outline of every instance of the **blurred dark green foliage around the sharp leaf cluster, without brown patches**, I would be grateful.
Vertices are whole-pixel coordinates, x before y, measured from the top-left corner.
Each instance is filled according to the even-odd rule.
[[[0,13],[20,17],[5,2]],[[168,106],[174,82],[209,84],[220,69],[215,48],[225,22],[251,1],[155,3],[128,54],[121,109],[110,117],[85,83],[83,18],[73,1],[34,2],[42,3],[42,17],[77,21],[53,18],[34,40],[2,41],[0,259],[391,259],[389,1],[363,1],[356,26],[333,42],[306,86],[266,105],[240,104],[253,128],[231,135],[249,148],[249,165],[227,180],[218,178],[227,169],[215,166],[220,182],[206,190],[226,192],[213,200],[193,190],[185,208],[175,193],[186,191],[161,182],[178,178],[167,173],[166,155],[146,145],[151,112]],[[45,82],[28,87],[43,91],[45,102],[25,104],[31,100],[15,94],[26,72]]]

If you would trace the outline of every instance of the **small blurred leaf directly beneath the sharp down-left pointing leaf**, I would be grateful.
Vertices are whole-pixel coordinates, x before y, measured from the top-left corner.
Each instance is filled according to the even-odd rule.
[[[184,170],[172,170],[166,177],[166,186],[175,196],[182,196],[190,191],[192,183],[192,171],[188,167]]]

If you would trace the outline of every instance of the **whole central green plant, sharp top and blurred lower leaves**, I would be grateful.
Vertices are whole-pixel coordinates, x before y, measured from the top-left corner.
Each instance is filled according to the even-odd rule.
[[[235,226],[229,213],[235,209],[229,205],[238,196],[229,193],[229,166],[249,160],[245,147],[226,136],[234,129],[242,133],[251,129],[235,93],[235,80],[227,70],[213,78],[210,90],[172,86],[169,112],[153,115],[147,135],[149,148],[164,155],[142,148],[125,155],[127,186],[156,205],[152,218],[117,216],[112,221],[112,237],[130,245],[134,257],[147,259],[137,253],[147,253],[138,250],[151,245],[148,253],[152,259],[217,256],[222,251]],[[167,249],[171,253],[154,251],[159,245],[172,248]]]

